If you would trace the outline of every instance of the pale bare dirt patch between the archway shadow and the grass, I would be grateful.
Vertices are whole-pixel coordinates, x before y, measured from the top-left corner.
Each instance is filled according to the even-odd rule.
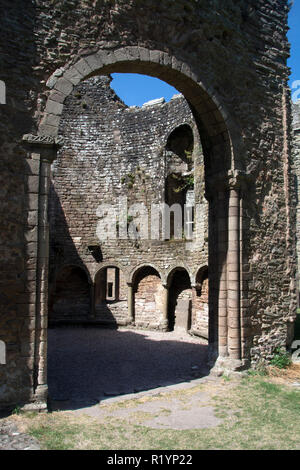
[[[196,379],[141,392],[125,397],[116,397],[98,405],[74,411],[86,414],[100,422],[110,419],[123,419],[131,424],[143,424],[156,429],[202,429],[218,426],[221,420],[214,414],[211,394],[199,390],[199,385],[207,384],[212,389],[217,378]],[[208,389],[209,390],[209,389]]]

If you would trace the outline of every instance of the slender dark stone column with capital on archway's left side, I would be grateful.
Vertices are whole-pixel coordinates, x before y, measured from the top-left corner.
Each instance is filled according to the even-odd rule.
[[[32,317],[32,386],[33,400],[45,406],[47,399],[47,323],[49,222],[48,195],[51,163],[60,141],[48,136],[27,134],[23,142],[28,149],[27,171],[27,280],[32,290],[29,311]],[[31,169],[35,169],[33,173]],[[28,283],[29,284],[29,283]]]

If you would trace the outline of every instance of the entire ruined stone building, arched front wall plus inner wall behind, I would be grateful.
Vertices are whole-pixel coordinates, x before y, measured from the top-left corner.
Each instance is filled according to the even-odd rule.
[[[0,405],[45,403],[48,309],[50,321],[72,311],[208,328],[221,372],[289,347],[297,264],[288,1],[3,8]],[[182,96],[127,108],[109,87],[115,72],[160,78]],[[114,227],[131,237],[99,240],[103,204],[125,196],[131,210]],[[162,214],[161,233],[147,239],[140,208],[150,222],[149,206],[166,202],[179,216],[167,227]]]

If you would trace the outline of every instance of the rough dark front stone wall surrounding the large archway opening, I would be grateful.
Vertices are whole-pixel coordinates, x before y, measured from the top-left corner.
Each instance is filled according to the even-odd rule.
[[[240,370],[288,346],[297,301],[288,2],[3,0],[1,6],[1,406],[45,402],[51,164],[64,151],[61,117],[75,87],[113,72],[165,80],[195,120],[208,201],[211,360]],[[155,268],[148,272],[153,284]],[[110,298],[114,274],[107,273]]]

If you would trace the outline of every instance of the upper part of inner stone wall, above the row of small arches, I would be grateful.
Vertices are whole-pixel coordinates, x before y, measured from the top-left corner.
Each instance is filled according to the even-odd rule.
[[[91,277],[102,263],[117,263],[127,273],[147,263],[160,272],[184,263],[191,273],[207,264],[204,162],[187,102],[178,95],[169,103],[158,100],[142,108],[128,108],[110,88],[110,81],[105,76],[89,79],[78,85],[65,103],[60,126],[64,145],[53,164],[50,194],[50,271],[54,284],[62,266],[73,264],[84,265]],[[192,144],[184,142],[185,128]],[[168,138],[177,129],[183,131],[179,132],[178,142],[173,139],[170,149]],[[194,190],[195,235],[192,241],[186,241],[184,234],[180,234],[182,240],[151,240],[152,205],[166,201],[165,185],[171,172],[184,174],[188,170],[185,146],[191,153],[186,162],[197,176],[202,175],[196,179]],[[119,210],[121,197],[128,205],[128,237],[130,226],[139,223],[130,208],[143,204],[148,210],[149,240],[144,241],[145,234],[141,233],[141,239],[128,240],[105,240],[97,235],[98,207],[110,204]],[[115,235],[118,237],[118,232]],[[89,250],[97,245],[100,261]],[[102,307],[106,311],[107,307]],[[110,305],[109,309],[120,320],[118,307],[124,313],[123,303]],[[97,313],[103,317],[105,312],[97,307]],[[49,318],[57,319],[57,312],[51,310]],[[147,321],[148,325],[157,323],[157,319]]]

